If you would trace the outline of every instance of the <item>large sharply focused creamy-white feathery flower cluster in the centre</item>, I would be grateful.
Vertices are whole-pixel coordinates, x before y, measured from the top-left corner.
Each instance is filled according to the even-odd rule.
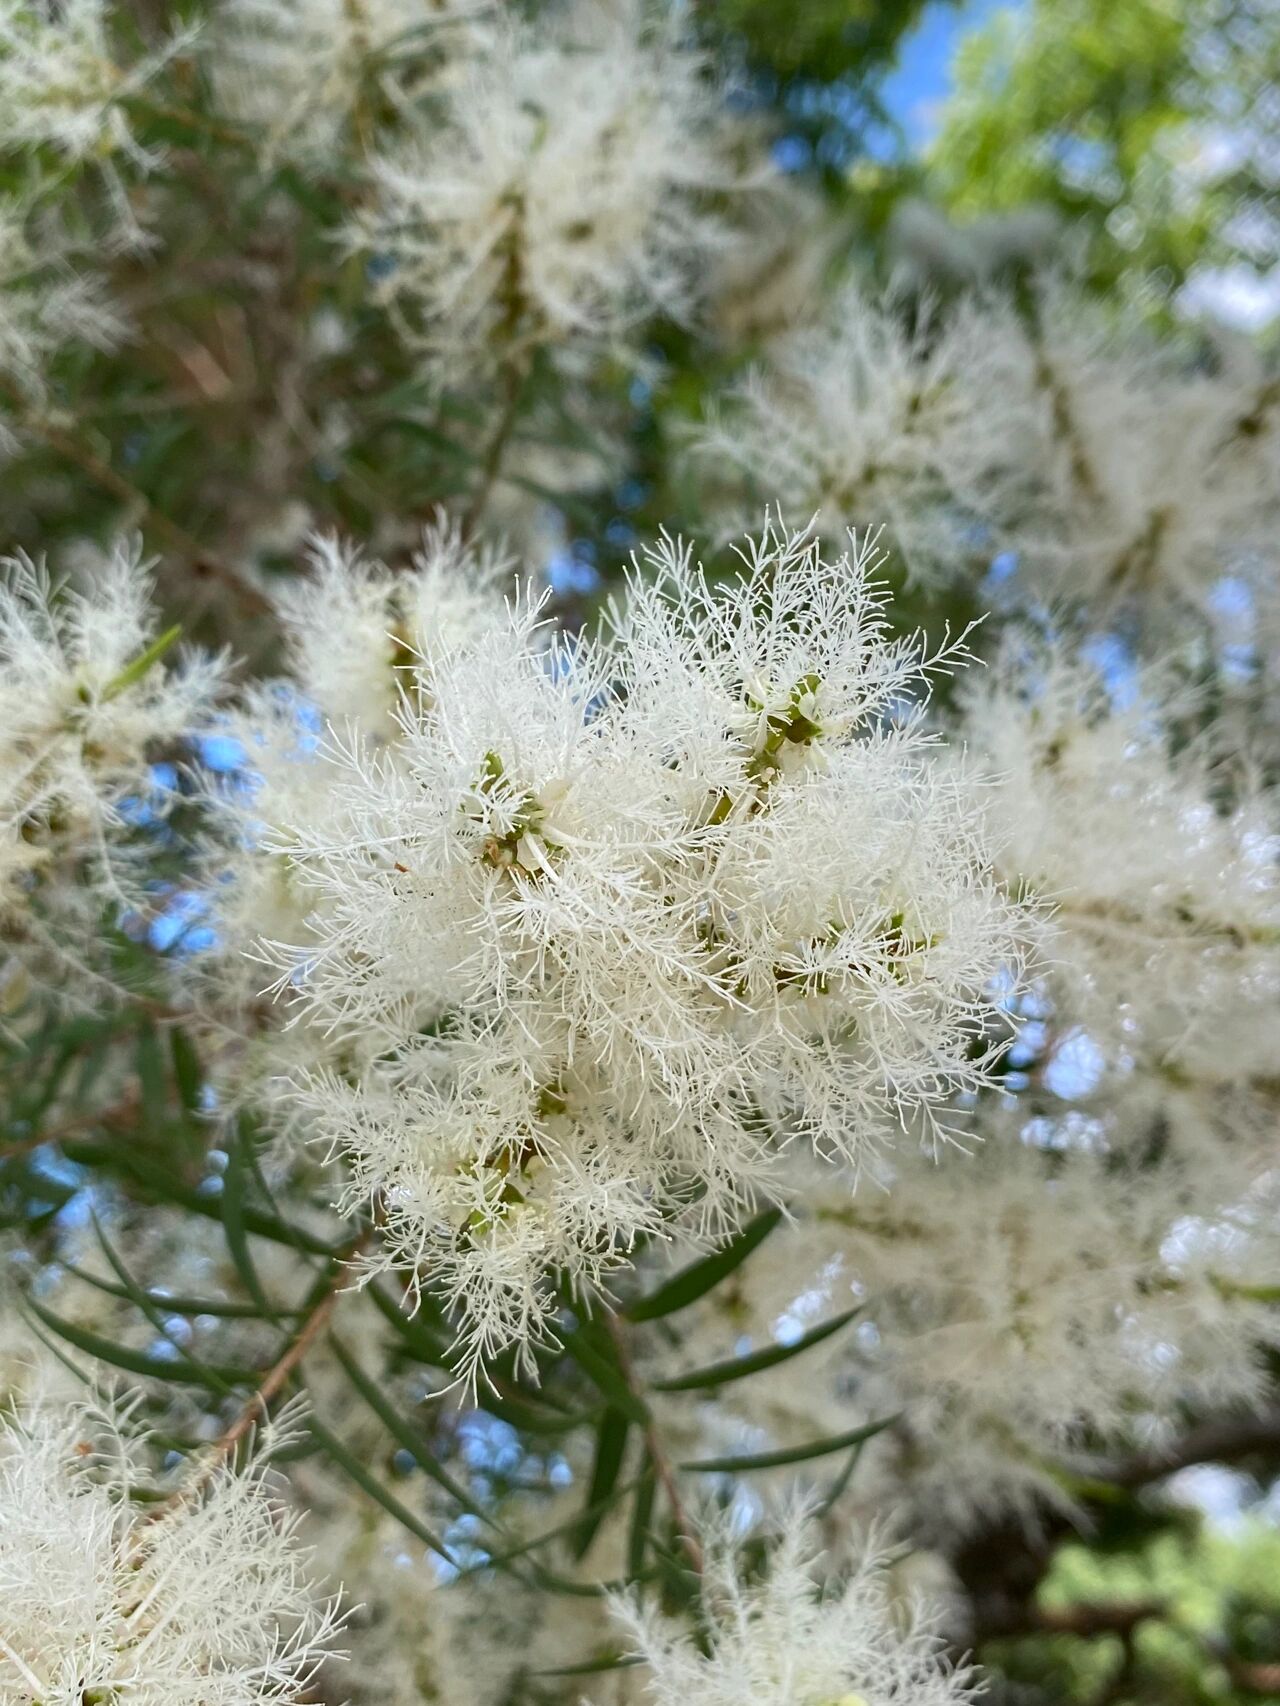
[[[305,925],[259,952],[336,1071],[299,1109],[474,1351],[689,1198],[722,1230],[780,1140],[985,1082],[1015,911],[908,705],[957,650],[887,636],[872,563],[768,525],[712,589],[667,543],[599,647],[515,606],[271,807]]]

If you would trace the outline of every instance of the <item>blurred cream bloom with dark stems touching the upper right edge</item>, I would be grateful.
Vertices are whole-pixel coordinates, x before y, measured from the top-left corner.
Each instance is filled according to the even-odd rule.
[[[1024,595],[1150,621],[1203,606],[1249,553],[1270,560],[1275,375],[1242,350],[1191,368],[1060,285],[1027,300],[990,307],[966,374],[980,502]]]

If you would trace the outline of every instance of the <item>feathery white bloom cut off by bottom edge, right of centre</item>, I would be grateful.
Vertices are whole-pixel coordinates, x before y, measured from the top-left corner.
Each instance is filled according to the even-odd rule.
[[[703,1576],[705,1643],[635,1602],[616,1612],[649,1667],[652,1706],[951,1706],[975,1697],[922,1605],[894,1605],[887,1554],[869,1547],[843,1583],[819,1587],[802,1510],[787,1517],[763,1581],[724,1535]]]

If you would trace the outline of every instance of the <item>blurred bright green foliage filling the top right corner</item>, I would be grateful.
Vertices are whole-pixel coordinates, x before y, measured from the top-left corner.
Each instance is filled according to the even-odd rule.
[[[1033,0],[968,34],[928,154],[959,217],[1043,203],[1092,281],[1167,292],[1275,261],[1273,0]]]

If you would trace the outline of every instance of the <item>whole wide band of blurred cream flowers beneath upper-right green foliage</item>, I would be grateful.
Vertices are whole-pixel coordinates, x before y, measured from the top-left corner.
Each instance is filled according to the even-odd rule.
[[[1200,609],[1273,570],[1275,374],[1109,324],[1063,283],[932,310],[853,285],[773,341],[700,432],[727,514],[785,491],[836,532],[886,522],[918,578],[1015,568],[1024,607]],[[741,498],[737,500],[741,502]]]

